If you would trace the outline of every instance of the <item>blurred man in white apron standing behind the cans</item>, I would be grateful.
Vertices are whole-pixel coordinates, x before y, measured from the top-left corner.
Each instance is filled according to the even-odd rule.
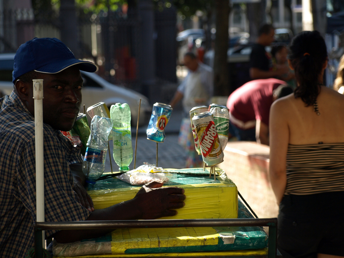
[[[178,142],[187,152],[185,167],[196,168],[202,166],[203,160],[195,149],[189,112],[195,106],[209,104],[213,96],[213,69],[199,62],[192,52],[184,55],[184,65],[189,73],[177,88],[170,105],[174,107],[182,99],[183,119]]]

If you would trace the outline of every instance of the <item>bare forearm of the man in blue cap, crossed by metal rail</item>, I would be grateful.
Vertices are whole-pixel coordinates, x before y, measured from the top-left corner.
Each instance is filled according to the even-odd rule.
[[[86,221],[132,220],[141,217],[136,200],[129,200],[92,212]],[[107,234],[114,229],[61,230],[54,235],[58,243],[72,243]]]

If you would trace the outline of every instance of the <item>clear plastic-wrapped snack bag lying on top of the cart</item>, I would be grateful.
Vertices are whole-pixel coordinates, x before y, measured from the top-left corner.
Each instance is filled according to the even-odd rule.
[[[130,170],[125,174],[117,176],[117,178],[131,185],[144,185],[152,181],[167,183],[176,178],[176,175],[163,168],[157,168],[152,164],[143,162],[143,165],[137,169]]]

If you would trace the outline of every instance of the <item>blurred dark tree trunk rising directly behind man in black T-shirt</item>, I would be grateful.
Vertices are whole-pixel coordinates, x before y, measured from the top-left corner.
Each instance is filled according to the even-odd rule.
[[[250,28],[250,42],[256,42],[259,28],[266,23],[266,1],[247,3],[247,17]]]

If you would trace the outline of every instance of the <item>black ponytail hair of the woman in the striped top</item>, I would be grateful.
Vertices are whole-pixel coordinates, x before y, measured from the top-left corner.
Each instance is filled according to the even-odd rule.
[[[319,75],[327,59],[326,44],[318,31],[303,31],[296,35],[289,46],[288,59],[295,70],[299,86],[294,90],[306,106],[316,102],[321,89]]]

